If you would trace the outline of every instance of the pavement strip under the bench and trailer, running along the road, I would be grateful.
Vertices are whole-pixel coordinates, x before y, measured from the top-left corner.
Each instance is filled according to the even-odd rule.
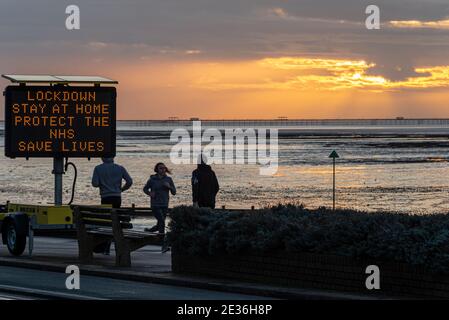
[[[311,290],[305,288],[279,287],[235,280],[179,275],[171,272],[170,251],[161,253],[160,246],[146,246],[131,254],[132,267],[115,266],[114,248],[111,255],[94,255],[92,265],[82,265],[78,261],[76,239],[35,237],[34,251],[20,257],[11,256],[6,246],[0,246],[0,266],[29,268],[41,271],[64,273],[68,265],[77,265],[81,276],[106,277],[118,280],[137,281],[161,285],[212,290],[235,294],[254,295],[278,299],[332,299],[371,300],[373,296],[348,294],[334,291]]]

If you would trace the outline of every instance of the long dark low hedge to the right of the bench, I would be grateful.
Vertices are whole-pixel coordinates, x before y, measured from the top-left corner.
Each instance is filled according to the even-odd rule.
[[[180,206],[168,241],[190,255],[335,254],[397,261],[449,273],[449,216],[314,210],[279,205],[252,212]]]

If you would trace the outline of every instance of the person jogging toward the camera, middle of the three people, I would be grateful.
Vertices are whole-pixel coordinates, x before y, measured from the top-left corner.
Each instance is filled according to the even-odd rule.
[[[151,210],[157,220],[157,224],[151,228],[145,228],[147,232],[165,233],[165,217],[168,211],[170,193],[176,194],[176,187],[167,173],[171,174],[165,164],[159,162],[154,167],[154,172],[143,187],[143,192],[151,198]]]

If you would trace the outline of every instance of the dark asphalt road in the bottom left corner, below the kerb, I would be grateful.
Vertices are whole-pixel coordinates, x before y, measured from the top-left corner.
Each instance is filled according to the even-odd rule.
[[[259,300],[266,297],[141,283],[81,275],[80,289],[68,290],[65,273],[0,266],[0,300],[22,299],[144,299]]]

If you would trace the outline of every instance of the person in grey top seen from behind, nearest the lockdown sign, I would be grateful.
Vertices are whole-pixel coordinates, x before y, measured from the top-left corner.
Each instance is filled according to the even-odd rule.
[[[126,169],[114,163],[114,158],[101,158],[103,163],[96,166],[92,175],[92,186],[100,189],[101,204],[110,204],[112,208],[120,208],[122,192],[131,188],[133,180]],[[125,185],[122,185],[125,180]],[[111,241],[104,245],[102,251],[109,255]],[[97,248],[95,251],[99,251]]]

